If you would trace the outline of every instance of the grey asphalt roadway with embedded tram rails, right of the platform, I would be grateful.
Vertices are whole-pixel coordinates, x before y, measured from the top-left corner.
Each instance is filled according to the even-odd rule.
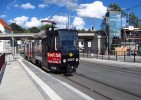
[[[67,76],[67,78],[81,84],[82,87],[58,74],[51,75],[68,82],[96,100],[141,100],[141,70],[134,68],[121,69],[118,65],[111,65],[108,62],[105,64],[81,61],[77,74]],[[91,89],[91,91],[83,86]]]

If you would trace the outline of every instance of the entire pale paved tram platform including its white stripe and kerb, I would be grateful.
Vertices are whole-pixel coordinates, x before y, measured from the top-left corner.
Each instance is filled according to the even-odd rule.
[[[0,100],[94,100],[40,69],[30,69],[23,60],[20,55],[6,56]]]

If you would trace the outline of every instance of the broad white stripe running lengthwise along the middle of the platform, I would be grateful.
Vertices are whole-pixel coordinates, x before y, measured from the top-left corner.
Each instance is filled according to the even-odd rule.
[[[63,100],[58,96],[48,85],[46,85],[41,79],[39,79],[21,60],[19,60],[28,74],[38,83],[38,85],[44,90],[51,100]]]

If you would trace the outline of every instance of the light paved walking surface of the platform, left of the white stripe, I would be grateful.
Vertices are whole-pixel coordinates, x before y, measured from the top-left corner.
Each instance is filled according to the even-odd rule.
[[[0,100],[44,100],[18,60],[7,56],[0,85]]]

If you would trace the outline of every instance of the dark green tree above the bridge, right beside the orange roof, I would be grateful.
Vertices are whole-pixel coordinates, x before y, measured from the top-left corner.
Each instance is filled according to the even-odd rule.
[[[14,30],[14,33],[25,33],[26,32],[24,28],[17,25],[16,23],[11,23],[9,26]]]

